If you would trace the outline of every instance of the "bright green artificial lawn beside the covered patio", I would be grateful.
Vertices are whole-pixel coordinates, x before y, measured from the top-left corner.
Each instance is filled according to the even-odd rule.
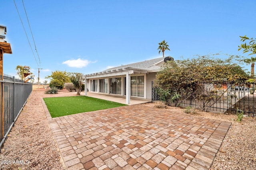
[[[52,117],[126,106],[125,104],[88,96],[44,98],[44,102]]]

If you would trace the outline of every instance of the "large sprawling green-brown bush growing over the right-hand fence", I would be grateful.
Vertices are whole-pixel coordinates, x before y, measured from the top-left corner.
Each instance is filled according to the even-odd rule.
[[[224,96],[224,90],[215,91],[222,84],[248,79],[248,74],[237,64],[238,59],[239,56],[218,59],[215,55],[206,55],[164,63],[155,80],[160,100],[180,106],[190,99],[199,109],[207,111]]]

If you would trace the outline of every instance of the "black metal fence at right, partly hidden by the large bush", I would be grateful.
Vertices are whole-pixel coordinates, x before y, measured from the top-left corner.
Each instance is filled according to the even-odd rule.
[[[159,87],[152,82],[152,102],[159,101]],[[175,102],[169,96],[166,102],[172,106],[194,107],[204,111],[219,113],[243,112],[245,115],[256,115],[255,83],[199,83],[189,94],[181,94]]]

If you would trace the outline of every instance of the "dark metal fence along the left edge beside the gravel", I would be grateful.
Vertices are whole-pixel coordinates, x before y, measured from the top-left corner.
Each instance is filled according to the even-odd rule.
[[[32,92],[32,84],[4,74],[0,77],[0,148]]]

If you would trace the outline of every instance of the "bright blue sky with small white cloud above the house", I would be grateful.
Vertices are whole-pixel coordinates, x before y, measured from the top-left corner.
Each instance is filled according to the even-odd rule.
[[[170,48],[165,56],[174,60],[248,57],[238,51],[239,36],[256,38],[255,0],[23,0],[38,57],[22,0],[15,2],[33,52],[14,1],[2,1],[0,25],[12,47],[4,54],[4,74],[16,76],[16,66],[26,65],[36,79],[42,68],[40,82],[55,70],[90,74],[162,57],[162,40]]]

